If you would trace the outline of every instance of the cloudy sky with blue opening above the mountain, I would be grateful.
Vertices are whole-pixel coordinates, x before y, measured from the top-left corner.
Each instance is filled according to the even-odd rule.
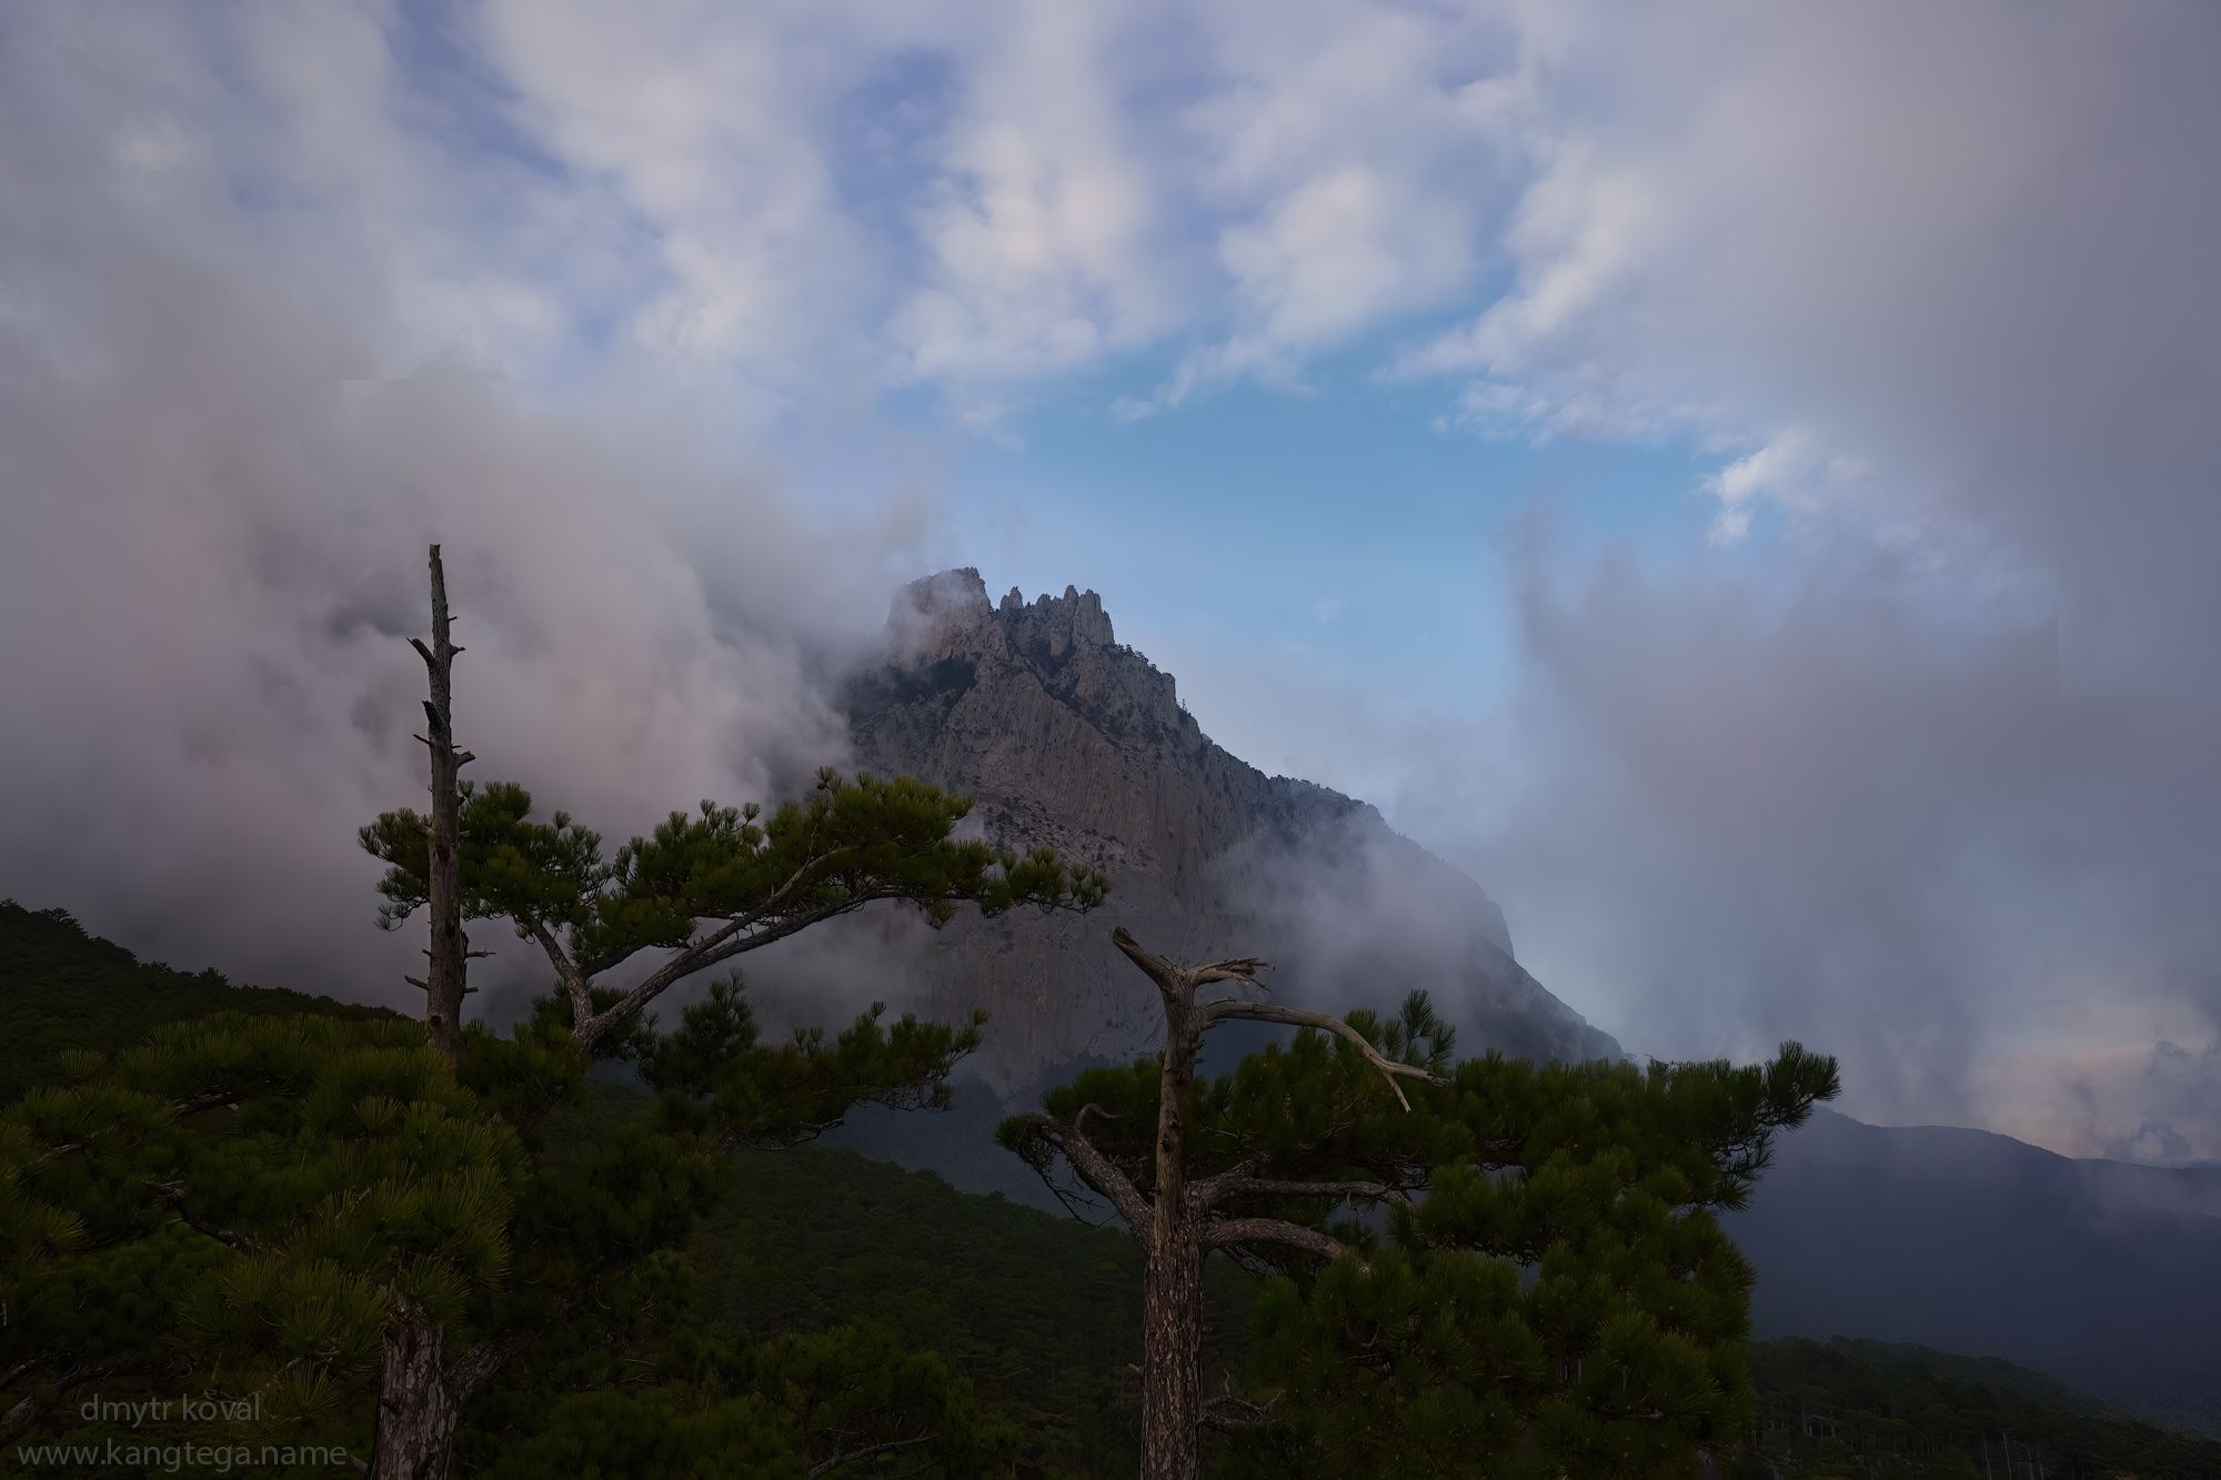
[[[0,893],[391,991],[426,540],[613,833],[837,760],[973,564],[1630,1049],[2221,1156],[2214,76],[2203,0],[0,9]]]

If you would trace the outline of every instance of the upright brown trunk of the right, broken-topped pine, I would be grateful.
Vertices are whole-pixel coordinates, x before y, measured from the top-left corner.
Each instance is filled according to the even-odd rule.
[[[1182,984],[1186,987],[1186,984]],[[1188,1211],[1188,1087],[1199,1024],[1193,989],[1164,993],[1157,1080],[1157,1207],[1142,1287],[1142,1480],[1195,1480],[1204,1422],[1204,1249]]]

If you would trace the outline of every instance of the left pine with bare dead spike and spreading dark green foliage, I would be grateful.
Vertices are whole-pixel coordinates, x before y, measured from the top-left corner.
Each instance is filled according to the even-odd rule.
[[[831,771],[768,816],[704,802],[604,856],[569,816],[535,820],[522,787],[458,778],[462,649],[438,547],[431,584],[431,811],[360,836],[386,862],[382,924],[429,909],[424,1024],[189,1022],[113,1060],[71,1056],[67,1084],[9,1107],[0,1393],[20,1396],[0,1438],[60,1422],[89,1384],[207,1380],[289,1424],[289,1442],[353,1451],[369,1436],[373,1476],[440,1480],[464,1404],[491,1384],[560,1407],[564,1353],[653,1338],[684,1287],[675,1251],[728,1189],[735,1147],[811,1138],[860,1102],[946,1104],[951,1067],[979,1042],[979,1016],[886,1022],[873,1004],[840,1033],[766,1044],[737,978],[662,1033],[660,993],[882,900],[939,924],[959,904],[1088,909],[1104,893],[1102,873],[1046,849],[957,840],[966,798]],[[462,927],[486,918],[555,973],[557,993],[509,1033],[462,1020]],[[606,984],[620,969],[626,984]],[[589,1133],[595,1060],[637,1060],[653,1111]],[[813,1464],[857,1444],[942,1462],[979,1442],[946,1380],[904,1389],[884,1433],[828,1418],[837,1391],[793,1416],[806,1384],[728,1387],[726,1418],[762,1420],[744,1449],[835,1451]]]

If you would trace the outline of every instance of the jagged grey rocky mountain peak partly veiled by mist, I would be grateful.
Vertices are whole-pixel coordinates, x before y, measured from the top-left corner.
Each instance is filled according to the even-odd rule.
[[[1213,744],[1093,591],[995,604],[977,571],[942,571],[895,598],[888,629],[888,664],[848,689],[857,764],[966,791],[984,836],[1110,873],[1093,916],[959,916],[926,947],[933,1011],[991,1011],[975,1069],[1004,1098],[1155,1047],[1155,1000],[1113,924],[1168,956],[1264,956],[1275,1000],[1304,1007],[1428,987],[1466,1051],[1619,1053],[1513,960],[1479,884],[1373,807]]]

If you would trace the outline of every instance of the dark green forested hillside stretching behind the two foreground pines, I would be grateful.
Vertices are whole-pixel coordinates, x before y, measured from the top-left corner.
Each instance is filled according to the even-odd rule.
[[[64,1073],[73,1051],[129,1049],[158,1024],[218,1011],[380,1018],[140,962],[62,911],[0,902],[0,1033],[13,1047],[0,1100]],[[646,1089],[604,1076],[560,1111],[560,1129],[573,1156],[586,1158],[649,1109]],[[868,1371],[875,1382],[893,1371],[911,1384],[904,1402],[931,1393],[962,1409],[977,1462],[995,1473],[1135,1471],[1142,1271],[1126,1236],[815,1144],[742,1149],[728,1173],[684,1260],[664,1271],[660,1327],[622,1358],[580,1342],[489,1389],[458,1436],[460,1473],[649,1473],[622,1460],[582,1464],[577,1453],[591,1444],[566,1451],[566,1424],[686,1433],[720,1422],[722,1409],[702,1402],[715,1387],[704,1373],[720,1373],[715,1391],[753,1402],[777,1389],[764,1382],[766,1367],[813,1364]],[[1210,1262],[1208,1389],[1237,1382],[1253,1362],[1246,1309],[1264,1284],[1264,1271]],[[1750,1371],[1752,1444],[1737,1473],[2221,1476],[2221,1442],[2125,1420],[1997,1360],[1877,1342],[1761,1342]],[[522,1433],[535,1438],[517,1442]],[[1206,1471],[1222,1460],[1239,1467],[1239,1442],[1213,1436]],[[686,1451],[673,1453],[684,1464]],[[80,1464],[73,1473],[102,1471]],[[911,1471],[855,1464],[842,1473]]]

